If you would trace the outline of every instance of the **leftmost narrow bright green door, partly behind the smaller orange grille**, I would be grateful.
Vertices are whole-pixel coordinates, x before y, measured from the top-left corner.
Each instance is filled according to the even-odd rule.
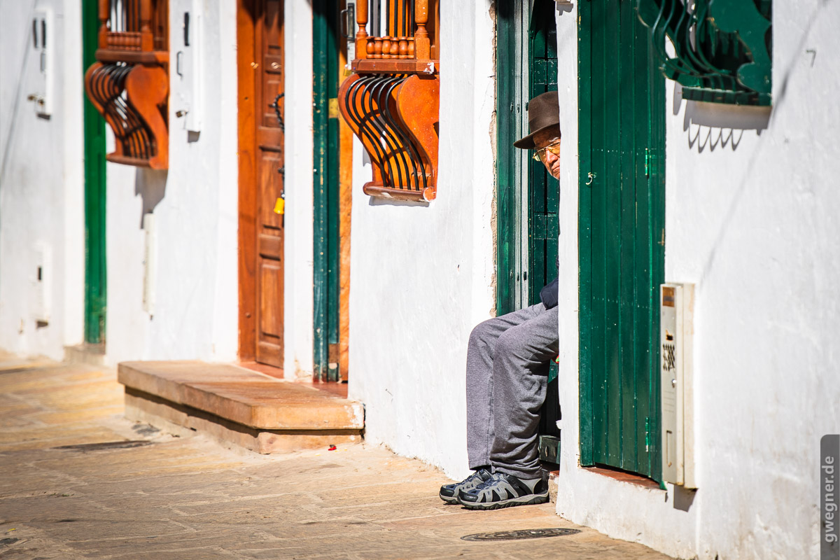
[[[82,71],[96,62],[97,0],[81,2]],[[84,97],[85,149],[85,343],[105,342],[105,120]]]

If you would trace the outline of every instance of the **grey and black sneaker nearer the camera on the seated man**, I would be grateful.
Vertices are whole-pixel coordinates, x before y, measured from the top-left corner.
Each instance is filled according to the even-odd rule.
[[[458,501],[468,510],[498,510],[512,505],[544,504],[549,501],[545,477],[522,480],[510,474],[493,473],[472,489],[461,489]]]

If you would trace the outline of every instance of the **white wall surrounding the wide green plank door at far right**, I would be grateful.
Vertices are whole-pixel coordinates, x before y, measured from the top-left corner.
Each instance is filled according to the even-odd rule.
[[[576,113],[574,16],[558,19],[559,95]],[[577,129],[564,122],[557,510],[570,521],[677,557],[816,557],[819,441],[840,427],[838,18],[832,3],[774,3],[772,112],[685,102],[666,82],[665,279],[697,290],[693,501],[578,468]]]

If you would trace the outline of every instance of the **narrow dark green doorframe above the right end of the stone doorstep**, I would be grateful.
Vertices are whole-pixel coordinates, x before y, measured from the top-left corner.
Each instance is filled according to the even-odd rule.
[[[312,2],[314,205],[313,377],[338,381],[339,92],[338,5]]]

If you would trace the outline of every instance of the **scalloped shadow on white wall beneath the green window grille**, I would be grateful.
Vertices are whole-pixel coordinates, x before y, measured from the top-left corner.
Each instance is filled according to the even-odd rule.
[[[689,149],[697,148],[702,154],[706,148],[710,152],[717,148],[738,149],[743,134],[754,130],[761,135],[770,122],[772,107],[750,107],[746,105],[727,105],[684,100],[682,86],[674,84],[674,114],[680,114],[685,102],[683,130],[688,132]]]

